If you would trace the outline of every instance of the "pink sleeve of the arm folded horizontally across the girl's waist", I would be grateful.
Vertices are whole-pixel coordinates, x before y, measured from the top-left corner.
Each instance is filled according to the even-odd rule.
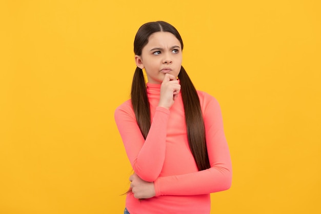
[[[229,189],[232,180],[230,153],[223,129],[222,113],[218,102],[207,93],[201,106],[206,129],[207,149],[211,168],[159,177],[155,182],[156,196],[192,196]]]

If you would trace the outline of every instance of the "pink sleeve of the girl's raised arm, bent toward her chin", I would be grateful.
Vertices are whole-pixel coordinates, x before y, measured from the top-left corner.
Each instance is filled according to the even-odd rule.
[[[156,107],[146,140],[137,125],[130,101],[119,106],[114,116],[133,170],[143,180],[155,181],[165,160],[169,110]]]

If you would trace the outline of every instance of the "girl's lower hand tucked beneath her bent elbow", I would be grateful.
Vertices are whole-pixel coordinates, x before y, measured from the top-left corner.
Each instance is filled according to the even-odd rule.
[[[136,173],[129,177],[130,187],[136,199],[148,199],[155,196],[154,182],[147,182],[137,176]]]

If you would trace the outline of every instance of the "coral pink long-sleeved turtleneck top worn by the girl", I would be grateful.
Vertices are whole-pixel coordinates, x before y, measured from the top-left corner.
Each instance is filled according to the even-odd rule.
[[[218,102],[197,91],[203,112],[211,168],[198,171],[190,151],[182,96],[170,110],[157,107],[160,84],[147,83],[151,127],[146,140],[130,100],[115,110],[115,121],[134,172],[154,182],[156,196],[138,200],[127,194],[131,214],[210,213],[210,193],[229,189],[232,167]]]

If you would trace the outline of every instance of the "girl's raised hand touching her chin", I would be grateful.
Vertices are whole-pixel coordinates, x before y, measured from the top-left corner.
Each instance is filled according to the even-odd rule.
[[[160,98],[158,106],[170,109],[180,91],[180,85],[176,77],[166,73],[162,86],[160,86]]]

